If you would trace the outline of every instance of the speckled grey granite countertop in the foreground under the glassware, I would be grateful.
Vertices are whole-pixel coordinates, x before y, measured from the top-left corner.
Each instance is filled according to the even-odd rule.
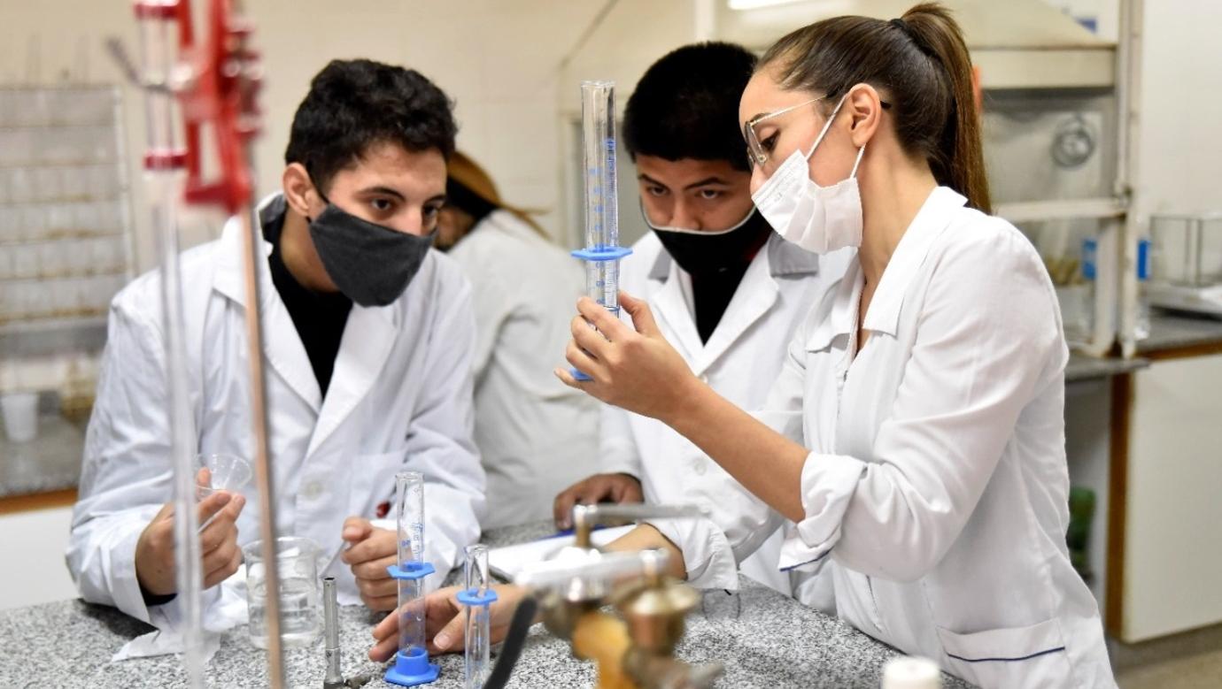
[[[485,535],[490,545],[522,542],[550,531],[547,524],[497,529]],[[734,605],[716,603],[709,618],[700,610],[688,616],[688,630],[677,655],[701,663],[722,661],[726,673],[717,687],[870,687],[880,683],[884,663],[897,651],[848,624],[815,612],[771,589],[744,579]],[[732,599],[726,599],[732,600]],[[728,611],[727,611],[728,608]],[[374,616],[362,607],[341,610],[340,643],[343,673],[371,673],[369,688],[382,682],[385,666],[367,660]],[[123,643],[150,628],[114,608],[61,601],[0,611],[0,687],[181,687],[185,673],[177,658],[164,656],[110,663]],[[309,649],[285,655],[286,687],[321,685],[324,657],[319,640]],[[435,658],[441,677],[433,687],[463,685],[462,656]],[[265,657],[254,649],[244,625],[225,633],[220,651],[208,666],[210,687],[265,687]],[[510,682],[511,687],[593,687],[593,665],[578,661],[567,644],[541,625],[530,639]],[[968,687],[943,676],[943,687]]]

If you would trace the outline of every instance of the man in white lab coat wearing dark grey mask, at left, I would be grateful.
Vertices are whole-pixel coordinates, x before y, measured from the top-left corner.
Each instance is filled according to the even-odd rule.
[[[479,538],[484,472],[472,442],[474,319],[458,269],[431,250],[455,122],[419,73],[334,61],[293,118],[284,191],[259,221],[269,452],[281,534],[321,547],[341,602],[395,606],[396,472],[425,478],[425,560],[444,577]],[[200,453],[252,457],[240,225],[182,255],[189,401]],[[81,595],[155,625],[176,612],[160,285],[111,307],[67,552]],[[205,586],[258,539],[253,490],[199,505]],[[347,517],[347,520],[345,520]],[[345,547],[347,546],[347,547]],[[436,583],[436,581],[433,581]],[[240,600],[229,584],[210,610]]]

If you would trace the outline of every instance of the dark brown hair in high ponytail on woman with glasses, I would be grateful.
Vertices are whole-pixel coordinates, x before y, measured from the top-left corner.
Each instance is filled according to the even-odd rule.
[[[916,5],[890,22],[835,17],[813,23],[776,42],[756,71],[764,68],[777,70],[782,88],[829,100],[859,83],[885,90],[904,150],[924,155],[938,184],[992,211],[971,57],[959,24],[941,5]]]

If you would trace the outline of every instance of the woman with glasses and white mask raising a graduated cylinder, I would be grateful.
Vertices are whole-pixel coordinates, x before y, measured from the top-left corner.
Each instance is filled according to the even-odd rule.
[[[566,382],[662,420],[796,523],[838,614],[984,687],[1113,687],[1069,564],[1068,358],[1034,248],[987,215],[968,51],[923,5],[782,38],[743,94],[758,208],[811,250],[859,246],[755,418],[692,375],[640,301],[582,301]],[[761,420],[764,423],[761,423]],[[771,428],[770,428],[771,426]],[[777,430],[800,426],[804,443]],[[682,571],[677,571],[682,574]]]

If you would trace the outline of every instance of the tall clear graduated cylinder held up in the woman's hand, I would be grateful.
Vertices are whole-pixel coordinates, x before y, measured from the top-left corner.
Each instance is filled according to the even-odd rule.
[[[582,170],[585,182],[585,293],[612,314],[620,313],[620,246],[616,189],[615,82],[582,82]],[[578,380],[589,380],[573,370]]]

